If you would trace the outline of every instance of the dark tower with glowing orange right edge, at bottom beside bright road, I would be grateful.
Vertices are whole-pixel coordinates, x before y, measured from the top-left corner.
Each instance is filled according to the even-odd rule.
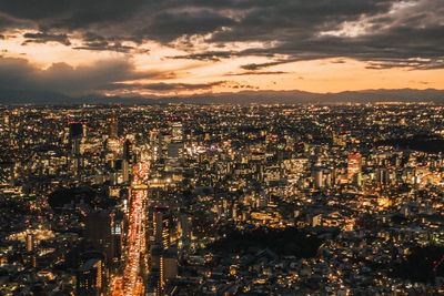
[[[77,275],[78,295],[102,295],[102,261],[92,258],[87,261]]]

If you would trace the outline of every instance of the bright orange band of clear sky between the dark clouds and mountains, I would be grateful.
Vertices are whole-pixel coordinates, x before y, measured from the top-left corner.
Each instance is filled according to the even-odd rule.
[[[341,92],[366,89],[440,89],[444,85],[444,70],[411,70],[405,68],[366,69],[365,62],[352,59],[324,59],[313,61],[291,62],[270,67],[246,73],[241,65],[249,63],[265,63],[271,59],[245,57],[221,61],[193,61],[170,59],[174,54],[185,52],[160,45],[143,44],[148,53],[127,53],[111,51],[74,50],[60,43],[36,43],[21,45],[22,39],[1,40],[0,47],[7,49],[3,57],[27,59],[39,69],[47,69],[52,63],[65,62],[79,67],[104,59],[128,59],[140,71],[163,71],[174,73],[170,79],[140,79],[121,81],[123,83],[209,83],[223,81],[202,90],[149,91],[155,94],[192,94],[202,92],[236,92],[241,90],[302,90],[309,92]],[[269,72],[261,74],[261,72]],[[137,91],[135,92],[140,92]]]

